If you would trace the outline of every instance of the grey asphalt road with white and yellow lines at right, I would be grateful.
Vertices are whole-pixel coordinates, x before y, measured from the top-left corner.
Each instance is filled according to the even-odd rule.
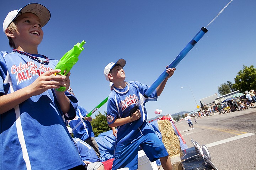
[[[206,145],[212,163],[219,170],[256,169],[256,108],[192,120],[190,130],[187,121],[175,123],[188,148],[191,138],[201,146]]]

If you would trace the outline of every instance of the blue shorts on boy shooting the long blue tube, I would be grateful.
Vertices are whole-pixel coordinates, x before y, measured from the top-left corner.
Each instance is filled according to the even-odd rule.
[[[169,155],[164,144],[153,130],[148,129],[145,132],[142,137],[132,143],[116,146],[112,170],[119,168],[138,169],[139,146],[151,162]]]

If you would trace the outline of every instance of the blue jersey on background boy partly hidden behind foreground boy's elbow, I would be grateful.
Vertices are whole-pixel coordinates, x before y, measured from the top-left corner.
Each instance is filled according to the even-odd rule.
[[[88,112],[81,106],[78,106],[76,109],[76,117],[75,119],[69,122],[70,127],[73,129],[83,118],[86,116]],[[83,121],[74,131],[74,137],[77,137],[81,140],[86,140],[89,137],[94,137],[94,132],[92,131],[91,123],[88,120]]]

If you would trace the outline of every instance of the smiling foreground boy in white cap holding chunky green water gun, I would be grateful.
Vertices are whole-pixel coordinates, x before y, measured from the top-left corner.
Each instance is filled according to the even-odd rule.
[[[54,76],[60,72],[54,70],[58,61],[37,51],[49,19],[45,6],[32,3],[9,12],[3,23],[14,50],[0,52],[0,169],[64,170],[85,165],[63,121],[74,119],[78,105],[70,73]],[[65,92],[55,90],[60,86]]]

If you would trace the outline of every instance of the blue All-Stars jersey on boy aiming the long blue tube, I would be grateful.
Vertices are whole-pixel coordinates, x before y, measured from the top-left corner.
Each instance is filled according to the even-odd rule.
[[[138,81],[127,82],[129,84],[129,91],[125,94],[119,94],[112,90],[108,96],[107,102],[107,122],[112,124],[118,118],[126,118],[130,116],[130,110],[143,97],[149,86],[144,85]],[[125,92],[128,90],[128,85],[124,89],[117,89],[118,92]],[[144,101],[139,107],[141,117],[131,123],[124,124],[117,127],[116,145],[125,145],[137,140],[144,134],[144,130],[151,129],[146,123],[147,113],[145,103],[148,101],[156,101],[156,90]]]

